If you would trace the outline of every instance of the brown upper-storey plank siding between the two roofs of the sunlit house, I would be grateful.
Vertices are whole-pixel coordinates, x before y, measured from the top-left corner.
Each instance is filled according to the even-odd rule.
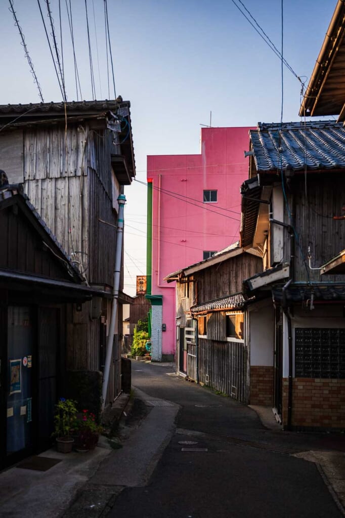
[[[197,304],[242,291],[243,279],[261,271],[262,258],[245,253],[194,273],[197,281]]]

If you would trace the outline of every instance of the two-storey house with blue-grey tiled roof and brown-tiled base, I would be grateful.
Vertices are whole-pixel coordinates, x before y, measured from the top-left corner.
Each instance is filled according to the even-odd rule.
[[[345,248],[345,128],[259,124],[250,142],[240,244],[264,270],[245,280],[247,296],[268,305],[257,377],[285,428],[343,430],[345,276],[325,264]]]

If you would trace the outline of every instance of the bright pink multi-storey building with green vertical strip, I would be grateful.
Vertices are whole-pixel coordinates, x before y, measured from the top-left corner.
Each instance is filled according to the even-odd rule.
[[[239,188],[248,178],[243,151],[250,129],[203,128],[200,154],[148,156],[147,298],[154,361],[173,359],[176,350],[175,283],[164,277],[239,239]]]

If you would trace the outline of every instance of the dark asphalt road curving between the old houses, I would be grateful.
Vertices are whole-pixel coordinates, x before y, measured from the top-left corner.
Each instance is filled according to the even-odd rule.
[[[317,465],[291,455],[325,444],[337,448],[334,441],[317,434],[267,430],[250,408],[205,387],[168,376],[173,369],[132,363],[134,386],[152,397],[177,403],[181,410],[176,432],[149,484],[125,488],[109,516],[342,516]]]

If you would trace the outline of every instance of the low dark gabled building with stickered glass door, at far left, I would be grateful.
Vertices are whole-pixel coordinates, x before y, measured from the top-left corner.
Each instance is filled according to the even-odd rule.
[[[0,467],[46,449],[66,394],[71,306],[95,294],[21,185],[0,188]],[[98,295],[98,292],[97,292]]]

